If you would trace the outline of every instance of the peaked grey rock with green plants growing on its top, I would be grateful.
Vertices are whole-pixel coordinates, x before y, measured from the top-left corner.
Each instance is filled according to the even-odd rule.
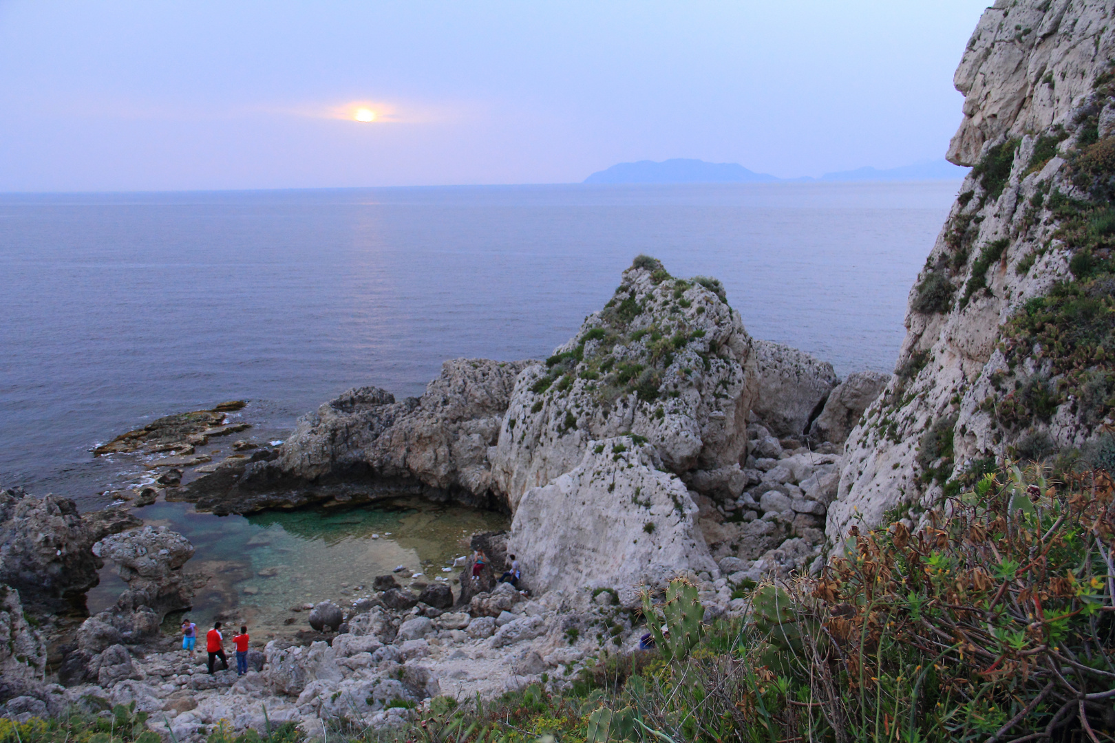
[[[626,433],[647,439],[670,471],[739,463],[755,398],[752,339],[719,283],[704,281],[637,262],[573,339],[523,371],[489,452],[512,510],[578,467],[590,442]]]

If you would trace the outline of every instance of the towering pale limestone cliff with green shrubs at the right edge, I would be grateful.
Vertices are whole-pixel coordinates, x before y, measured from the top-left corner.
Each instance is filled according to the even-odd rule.
[[[915,521],[1005,457],[1115,465],[1109,16],[1000,0],[980,19],[949,149],[973,168],[910,292],[895,375],[849,438],[830,539]]]

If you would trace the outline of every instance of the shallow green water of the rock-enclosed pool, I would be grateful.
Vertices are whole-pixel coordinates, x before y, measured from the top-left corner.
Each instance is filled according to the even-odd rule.
[[[377,575],[400,565],[421,574],[401,584],[446,583],[456,594],[459,568],[444,568],[467,554],[472,535],[508,526],[500,514],[404,499],[246,517],[217,517],[190,504],[163,501],[134,512],[146,525],[186,535],[196,551],[183,569],[212,576],[195,595],[190,618],[198,627],[216,619],[243,622],[261,641],[309,628],[309,613],[292,607],[327,598],[349,607],[371,594]],[[109,608],[124,588],[106,560],[100,585],[87,595],[90,614]]]

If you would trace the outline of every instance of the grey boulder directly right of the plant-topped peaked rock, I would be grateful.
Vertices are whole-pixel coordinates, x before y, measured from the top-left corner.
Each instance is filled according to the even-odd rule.
[[[799,437],[836,383],[827,361],[770,341],[755,341],[758,392],[752,411],[777,437]]]

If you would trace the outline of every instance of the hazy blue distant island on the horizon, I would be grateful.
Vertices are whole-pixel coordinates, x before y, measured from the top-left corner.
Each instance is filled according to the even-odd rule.
[[[969,168],[953,165],[948,160],[934,160],[918,165],[879,169],[862,167],[855,170],[826,173],[820,178],[778,178],[767,173],[755,173],[736,163],[706,163],[705,160],[676,157],[661,163],[639,160],[620,163],[607,170],[593,173],[584,183],[803,183],[803,182],[852,182],[852,180],[960,180]]]

